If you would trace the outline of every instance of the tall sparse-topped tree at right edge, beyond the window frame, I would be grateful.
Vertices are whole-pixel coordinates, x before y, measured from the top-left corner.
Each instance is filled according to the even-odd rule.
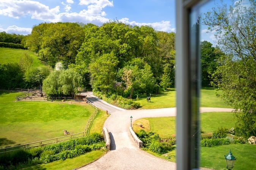
[[[203,17],[209,31],[216,31],[218,45],[226,55],[218,60],[214,83],[222,98],[236,108],[236,132],[256,136],[256,2],[222,3]]]

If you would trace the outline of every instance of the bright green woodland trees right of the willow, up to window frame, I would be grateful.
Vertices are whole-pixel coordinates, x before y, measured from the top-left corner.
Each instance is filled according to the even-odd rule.
[[[123,97],[130,97],[132,89],[133,96],[155,93],[165,66],[168,65],[169,70],[172,70],[172,73],[168,74],[170,81],[174,80],[174,37],[174,33],[158,33],[150,26],[132,27],[118,21],[105,23],[101,27],[87,24],[85,41],[77,54],[76,65],[73,66],[84,75],[91,74],[90,82],[95,91],[100,90],[105,94],[116,93],[117,90],[113,89],[113,84],[109,80],[123,80],[126,83],[126,91],[119,94]],[[170,46],[165,45],[166,42]],[[162,53],[161,48],[165,48]],[[164,56],[165,54],[168,56]],[[108,56],[109,61],[115,61],[115,65],[110,65],[113,66],[113,70],[107,67],[108,62],[103,59],[104,55]],[[99,83],[101,76],[97,74],[106,74],[100,70],[101,67],[111,78],[107,81],[102,79]]]

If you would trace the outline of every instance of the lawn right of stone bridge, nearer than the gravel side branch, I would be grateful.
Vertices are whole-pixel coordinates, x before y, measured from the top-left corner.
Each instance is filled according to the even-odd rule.
[[[134,124],[142,124],[145,131],[153,131],[161,138],[169,138],[175,136],[176,117],[154,117],[138,119]],[[233,120],[233,121],[232,121]],[[159,123],[160,122],[160,123]],[[166,128],[168,127],[168,128]],[[210,112],[201,113],[201,128],[205,133],[212,133],[219,127],[231,128],[234,127],[234,114],[230,112]],[[135,132],[140,130],[137,126],[133,126]],[[212,168],[215,170],[225,170],[226,162],[224,155],[228,154],[229,150],[236,156],[237,160],[234,165],[234,170],[256,169],[256,145],[249,144],[229,144],[215,147],[201,147],[201,167]],[[176,162],[176,150],[166,154],[157,154],[147,151],[154,156]]]

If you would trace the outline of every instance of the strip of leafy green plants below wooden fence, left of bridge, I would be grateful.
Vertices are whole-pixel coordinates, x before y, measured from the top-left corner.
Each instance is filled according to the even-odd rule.
[[[81,144],[85,142],[88,145]],[[65,160],[83,155],[91,150],[99,150],[105,146],[101,134],[93,133],[79,139],[71,139],[66,142],[50,144],[44,147],[30,148],[27,150],[18,150],[0,155],[0,166],[18,167],[19,164],[36,165],[49,163],[56,160]]]

